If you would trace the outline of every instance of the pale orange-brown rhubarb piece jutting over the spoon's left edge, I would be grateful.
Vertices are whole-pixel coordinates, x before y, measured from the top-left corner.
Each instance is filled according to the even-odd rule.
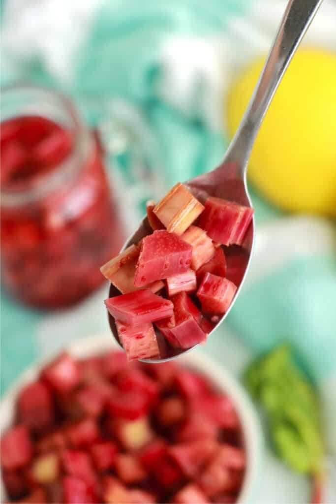
[[[138,245],[130,245],[117,257],[111,259],[100,268],[100,271],[122,294],[135,292],[142,287],[134,286],[136,265],[140,254]],[[145,286],[152,292],[158,292],[164,287],[164,283],[159,280]]]

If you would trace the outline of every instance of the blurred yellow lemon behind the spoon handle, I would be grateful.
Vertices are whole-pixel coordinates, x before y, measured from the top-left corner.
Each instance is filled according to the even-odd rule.
[[[230,135],[263,61],[254,60],[228,94]],[[285,210],[336,216],[336,54],[301,49],[294,56],[256,138],[248,177]]]

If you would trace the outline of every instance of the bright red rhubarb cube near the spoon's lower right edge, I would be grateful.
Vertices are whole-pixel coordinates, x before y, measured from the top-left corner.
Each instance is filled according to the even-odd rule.
[[[204,313],[223,315],[236,293],[235,284],[226,278],[206,273],[197,290],[197,297]]]

